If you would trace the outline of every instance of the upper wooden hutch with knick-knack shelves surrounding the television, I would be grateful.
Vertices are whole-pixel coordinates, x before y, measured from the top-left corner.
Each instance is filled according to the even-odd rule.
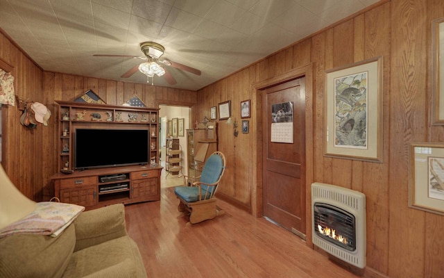
[[[58,166],[60,170],[74,170],[74,154],[71,150],[74,149],[73,138],[76,128],[130,129],[137,125],[140,129],[148,129],[151,139],[151,146],[148,146],[150,163],[152,158],[155,159],[156,164],[159,163],[157,146],[159,109],[74,101],[56,101],[56,103],[59,106]]]

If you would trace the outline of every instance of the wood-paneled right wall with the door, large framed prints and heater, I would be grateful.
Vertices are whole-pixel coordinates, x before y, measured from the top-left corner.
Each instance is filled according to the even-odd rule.
[[[232,101],[232,117],[240,121],[240,101],[252,99],[250,133],[232,134],[219,122],[219,150],[228,158],[218,190],[224,199],[260,215],[261,192],[255,161],[261,119],[255,83],[313,66],[314,181],[352,188],[366,194],[366,277],[444,277],[443,216],[408,206],[408,147],[412,141],[442,142],[443,126],[429,124],[431,87],[431,22],[444,17],[440,0],[382,1],[330,28],[296,42],[240,72],[198,91],[198,118],[210,107]],[[375,56],[384,58],[383,163],[323,156],[325,70]],[[256,159],[257,160],[257,159]],[[307,190],[310,186],[307,184]],[[308,201],[308,200],[307,200]],[[307,202],[311,211],[311,202]],[[307,222],[307,238],[311,223]],[[307,240],[311,245],[311,240]]]

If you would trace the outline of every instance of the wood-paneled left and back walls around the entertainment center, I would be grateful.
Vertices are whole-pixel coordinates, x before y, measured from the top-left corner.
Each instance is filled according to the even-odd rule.
[[[16,95],[24,101],[41,102],[53,113],[48,126],[28,129],[19,122],[22,111],[17,106],[2,107],[2,144],[5,150],[2,165],[15,186],[35,201],[53,197],[50,177],[60,170],[57,165],[59,116],[55,100],[73,101],[91,89],[107,104],[123,104],[134,94],[146,106],[154,108],[158,108],[159,104],[193,107],[197,103],[197,93],[191,90],[44,72],[1,32],[0,58],[14,67],[11,74],[15,76]]]

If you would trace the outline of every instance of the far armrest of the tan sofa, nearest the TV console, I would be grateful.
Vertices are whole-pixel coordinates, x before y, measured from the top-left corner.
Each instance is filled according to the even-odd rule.
[[[112,204],[92,211],[84,211],[73,223],[76,227],[74,252],[128,235],[123,204]]]

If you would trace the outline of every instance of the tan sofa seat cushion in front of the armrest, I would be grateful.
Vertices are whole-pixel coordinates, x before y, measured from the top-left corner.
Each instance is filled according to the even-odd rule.
[[[74,252],[63,277],[146,277],[137,245],[129,236]]]

